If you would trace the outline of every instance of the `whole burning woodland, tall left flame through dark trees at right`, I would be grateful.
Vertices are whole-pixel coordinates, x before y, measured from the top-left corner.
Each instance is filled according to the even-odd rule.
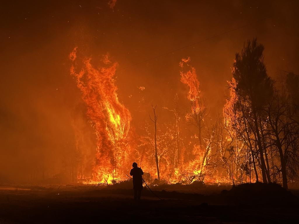
[[[86,115],[97,138],[92,175],[85,183],[109,185],[128,180],[131,164],[136,161],[151,185],[235,185],[262,178],[264,183],[283,180],[283,187],[287,188],[287,175],[291,179],[297,177],[298,123],[294,122],[296,116],[290,119],[293,115],[288,114],[293,110],[288,102],[292,94],[283,107],[283,96],[274,96],[273,81],[262,61],[263,51],[251,57],[255,53],[251,48],[259,46],[262,45],[254,39],[244,45],[242,57],[236,55],[234,77],[228,82],[230,97],[223,114],[210,116],[200,77],[187,57],[176,65],[178,73],[174,77],[181,89],[172,103],[144,106],[147,118],[138,114],[142,112],[139,106],[138,110],[134,108],[136,104],[127,107],[120,100],[123,98],[119,99],[115,77],[118,63],[109,54],[96,62],[74,48],[70,53],[70,72],[82,93]],[[253,82],[247,77],[251,74],[247,72],[247,57],[257,60],[252,64],[261,66],[257,72],[263,72],[263,79],[257,76]],[[265,88],[260,89],[260,85]],[[137,88],[145,102],[147,88],[139,84]],[[132,94],[128,95],[132,99]],[[273,102],[269,101],[270,96]],[[132,120],[131,112],[142,116],[142,124]],[[277,120],[279,124],[275,123]],[[285,144],[285,139],[292,144]],[[292,156],[284,157],[283,151]]]

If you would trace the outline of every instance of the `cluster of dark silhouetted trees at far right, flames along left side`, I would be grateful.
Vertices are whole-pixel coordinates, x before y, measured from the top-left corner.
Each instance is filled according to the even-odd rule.
[[[259,167],[263,182],[281,178],[283,187],[288,188],[288,177],[294,179],[298,170],[298,122],[290,112],[296,110],[290,103],[291,94],[274,91],[274,81],[263,63],[263,50],[263,45],[254,39],[244,44],[241,54],[236,54],[234,78],[229,82],[231,97],[223,114],[234,144],[234,157],[239,157],[235,167],[250,174],[253,166],[256,181]],[[244,143],[246,147],[240,148]]]

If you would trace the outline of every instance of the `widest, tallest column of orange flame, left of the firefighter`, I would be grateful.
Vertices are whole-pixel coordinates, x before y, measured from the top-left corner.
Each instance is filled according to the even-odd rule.
[[[115,85],[118,63],[112,63],[105,55],[99,67],[91,64],[91,58],[79,60],[77,47],[69,55],[73,62],[70,72],[76,78],[82,99],[87,106],[97,136],[97,154],[93,167],[94,181],[111,183],[128,173],[129,137],[131,114],[119,102]],[[80,68],[78,68],[80,67]]]

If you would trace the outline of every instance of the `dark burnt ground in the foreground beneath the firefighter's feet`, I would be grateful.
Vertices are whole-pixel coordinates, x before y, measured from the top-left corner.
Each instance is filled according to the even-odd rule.
[[[138,202],[132,199],[132,189],[116,187],[0,186],[0,223],[297,223],[299,220],[298,191],[251,185],[233,189],[191,186],[185,187],[185,192],[184,186],[169,187],[178,191],[161,188],[153,187],[163,200],[144,189]]]

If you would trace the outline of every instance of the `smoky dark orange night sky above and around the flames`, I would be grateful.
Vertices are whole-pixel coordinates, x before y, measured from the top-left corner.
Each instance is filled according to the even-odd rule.
[[[74,122],[86,136],[92,163],[95,137],[69,72],[74,47],[94,64],[106,53],[118,62],[118,96],[135,127],[148,118],[151,104],[169,107],[176,93],[186,96],[179,62],[188,56],[212,118],[222,112],[235,53],[247,39],[257,37],[265,46],[269,76],[299,74],[298,1],[108,3],[1,2],[0,180],[28,181],[41,169],[59,173],[75,145]]]

